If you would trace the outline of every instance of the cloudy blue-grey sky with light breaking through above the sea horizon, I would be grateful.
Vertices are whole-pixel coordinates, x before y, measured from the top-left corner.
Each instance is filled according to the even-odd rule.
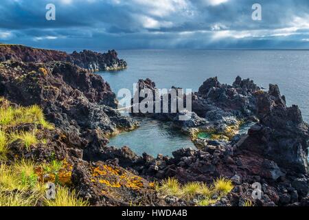
[[[56,8],[47,21],[46,5]],[[252,19],[252,5],[262,20]],[[82,49],[309,49],[308,0],[1,0],[0,42]]]

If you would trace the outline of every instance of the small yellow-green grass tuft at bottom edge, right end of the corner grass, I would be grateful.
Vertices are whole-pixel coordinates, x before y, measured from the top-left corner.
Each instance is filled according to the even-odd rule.
[[[76,191],[58,186],[55,199],[45,199],[45,206],[89,206],[88,201],[78,198]]]

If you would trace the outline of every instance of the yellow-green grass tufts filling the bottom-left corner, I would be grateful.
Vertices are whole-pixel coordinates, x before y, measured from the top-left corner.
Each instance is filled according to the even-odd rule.
[[[22,161],[12,166],[0,165],[0,206],[35,206],[45,199],[45,206],[89,206],[76,191],[58,186],[56,199],[46,199],[46,186],[38,181],[33,162]]]

